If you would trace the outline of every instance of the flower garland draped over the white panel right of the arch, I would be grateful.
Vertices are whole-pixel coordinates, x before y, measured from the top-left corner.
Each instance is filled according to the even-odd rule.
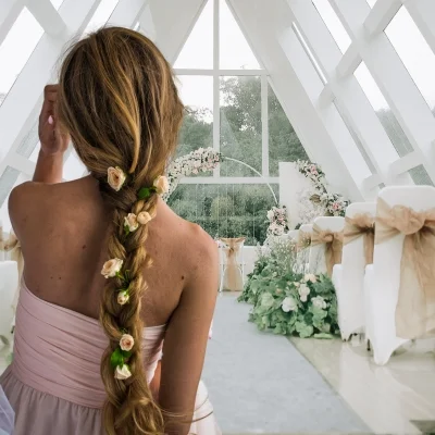
[[[298,160],[296,165],[299,172],[313,184],[314,192],[311,194],[310,201],[323,209],[326,215],[344,216],[349,201],[341,195],[328,191],[322,169],[318,164],[304,160]]]

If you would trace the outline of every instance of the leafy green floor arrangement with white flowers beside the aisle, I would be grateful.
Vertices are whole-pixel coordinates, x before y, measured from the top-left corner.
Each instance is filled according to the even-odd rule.
[[[271,237],[270,251],[259,249],[239,301],[252,304],[249,320],[259,330],[302,338],[339,334],[337,298],[326,275],[297,273],[291,241]]]

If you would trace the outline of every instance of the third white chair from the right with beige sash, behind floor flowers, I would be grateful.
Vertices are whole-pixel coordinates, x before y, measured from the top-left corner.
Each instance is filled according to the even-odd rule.
[[[341,262],[345,217],[316,217],[310,248],[310,273],[333,275],[335,264]]]

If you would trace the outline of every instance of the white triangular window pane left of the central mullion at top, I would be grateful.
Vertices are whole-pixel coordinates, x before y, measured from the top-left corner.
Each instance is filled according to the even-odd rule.
[[[213,67],[213,1],[207,2],[174,67],[201,70]]]

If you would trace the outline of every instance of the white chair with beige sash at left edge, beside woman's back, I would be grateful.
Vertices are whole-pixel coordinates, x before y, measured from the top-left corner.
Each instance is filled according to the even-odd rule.
[[[14,234],[4,234],[0,227],[0,341],[11,340],[11,331],[18,299],[20,279],[23,273],[23,256]]]

